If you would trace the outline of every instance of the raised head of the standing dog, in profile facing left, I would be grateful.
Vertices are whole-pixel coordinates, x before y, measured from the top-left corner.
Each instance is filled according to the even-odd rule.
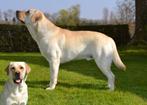
[[[34,24],[39,22],[43,18],[43,13],[36,9],[30,9],[28,11],[16,11],[16,17],[24,24]]]

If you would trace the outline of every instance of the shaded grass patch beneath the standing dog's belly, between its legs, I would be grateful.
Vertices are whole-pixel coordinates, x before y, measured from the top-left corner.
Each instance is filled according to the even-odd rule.
[[[96,66],[93,60],[78,60],[71,61],[60,66],[61,69],[66,71],[72,71],[79,74],[83,74],[86,76],[94,77],[96,79],[104,79],[105,76],[101,73],[101,71]]]

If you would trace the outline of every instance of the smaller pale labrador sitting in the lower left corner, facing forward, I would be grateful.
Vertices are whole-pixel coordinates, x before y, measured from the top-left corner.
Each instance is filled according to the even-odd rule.
[[[25,62],[10,62],[6,72],[9,79],[0,94],[0,105],[27,105],[28,89],[25,81],[30,67]]]

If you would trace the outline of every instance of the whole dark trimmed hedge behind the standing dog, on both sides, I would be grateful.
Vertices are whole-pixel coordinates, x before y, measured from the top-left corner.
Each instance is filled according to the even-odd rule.
[[[130,41],[128,25],[60,26],[70,30],[99,31],[112,37],[117,46]],[[0,52],[38,52],[38,46],[24,25],[0,25]]]

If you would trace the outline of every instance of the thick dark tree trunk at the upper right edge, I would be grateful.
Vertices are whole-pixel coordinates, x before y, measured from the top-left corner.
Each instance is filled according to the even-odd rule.
[[[135,0],[136,27],[133,40],[147,42],[147,0]]]

